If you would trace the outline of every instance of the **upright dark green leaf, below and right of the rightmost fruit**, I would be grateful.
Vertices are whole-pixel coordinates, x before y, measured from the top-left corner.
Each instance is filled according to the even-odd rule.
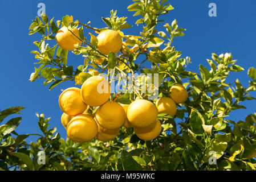
[[[192,110],[190,114],[190,126],[194,134],[204,134],[204,128],[202,127],[201,119],[194,110]]]

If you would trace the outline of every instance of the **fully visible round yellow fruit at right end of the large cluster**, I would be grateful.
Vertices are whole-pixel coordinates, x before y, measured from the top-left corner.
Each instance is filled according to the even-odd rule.
[[[132,102],[127,109],[129,122],[136,127],[146,127],[156,121],[157,107],[150,101],[139,99]]]

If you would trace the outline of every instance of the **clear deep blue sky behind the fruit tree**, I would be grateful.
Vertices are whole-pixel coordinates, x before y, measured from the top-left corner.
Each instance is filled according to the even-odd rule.
[[[24,106],[22,111],[22,123],[18,127],[19,134],[40,133],[35,113],[44,113],[51,117],[50,127],[56,126],[63,138],[66,138],[65,129],[60,122],[62,111],[59,109],[58,96],[61,89],[74,86],[74,82],[65,82],[49,91],[48,86],[43,86],[42,79],[30,82],[29,77],[34,72],[34,55],[30,52],[36,49],[34,41],[40,40],[39,35],[29,36],[31,20],[35,19],[38,11],[38,3],[46,5],[46,14],[55,20],[62,19],[64,15],[73,15],[74,19],[87,23],[91,21],[92,27],[105,27],[101,17],[109,16],[110,10],[117,10],[119,16],[127,16],[128,23],[134,24],[139,18],[132,16],[134,12],[127,11],[127,6],[132,1],[0,1],[0,14],[2,26],[0,28],[0,109],[11,106]],[[192,64],[188,70],[198,72],[198,65],[208,67],[206,59],[210,59],[211,53],[231,52],[237,59],[238,65],[245,68],[240,73],[231,73],[229,82],[236,78],[243,86],[248,85],[247,69],[255,67],[256,48],[256,1],[246,0],[198,0],[198,1],[169,1],[174,7],[169,14],[162,16],[162,20],[171,23],[177,19],[180,27],[186,28],[185,36],[174,39],[173,46],[182,51],[183,57],[190,56]],[[217,5],[217,17],[209,17],[208,5],[214,2]],[[159,24],[158,30],[164,30]],[[140,27],[136,25],[124,30],[125,34],[138,34]],[[88,36],[88,31],[85,29]],[[68,55],[69,65],[83,64],[82,56]],[[38,66],[38,65],[36,65]],[[208,67],[209,68],[209,67]],[[254,92],[252,96],[256,97]],[[234,111],[230,119],[239,121],[246,115],[254,113],[256,101],[246,101],[247,110]],[[30,137],[28,140],[34,140]]]

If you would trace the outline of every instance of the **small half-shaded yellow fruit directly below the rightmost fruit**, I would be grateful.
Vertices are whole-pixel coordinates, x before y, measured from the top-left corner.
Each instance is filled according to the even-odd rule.
[[[177,113],[176,103],[169,97],[162,97],[156,101],[156,107],[159,113],[169,114],[171,117]]]

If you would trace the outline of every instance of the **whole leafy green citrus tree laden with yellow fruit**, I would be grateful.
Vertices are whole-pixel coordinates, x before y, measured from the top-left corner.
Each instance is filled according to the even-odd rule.
[[[124,35],[122,30],[132,26],[113,10],[102,18],[104,28],[69,15],[54,20],[42,14],[33,20],[29,34],[41,34],[42,39],[34,42],[38,50],[31,52],[38,67],[30,81],[43,78],[51,90],[71,80],[80,89],[67,88],[56,98],[67,138],[55,127],[49,129],[50,118],[43,114],[36,114],[42,134],[17,134],[21,117],[1,123],[0,169],[255,170],[256,113],[245,121],[228,117],[233,110],[246,109],[243,101],[255,99],[250,96],[256,90],[255,68],[248,70],[247,87],[238,79],[234,84],[226,81],[230,72],[244,71],[231,53],[212,53],[207,59],[210,69],[200,64],[198,73],[186,70],[190,58],[172,46],[185,29],[174,19],[164,24],[166,31],[157,31],[159,17],[173,9],[166,2],[137,0],[128,6],[140,16],[137,35]],[[68,53],[81,56],[79,67],[73,67]],[[136,73],[157,73],[159,86],[153,77]],[[119,82],[118,74],[131,77],[132,92],[97,92],[102,80],[107,86]],[[159,97],[149,99],[152,92],[142,92],[143,86],[135,86],[138,82],[151,82],[148,88]],[[22,109],[1,111],[0,122]],[[27,143],[29,135],[39,138]],[[45,163],[38,162],[40,151]]]

